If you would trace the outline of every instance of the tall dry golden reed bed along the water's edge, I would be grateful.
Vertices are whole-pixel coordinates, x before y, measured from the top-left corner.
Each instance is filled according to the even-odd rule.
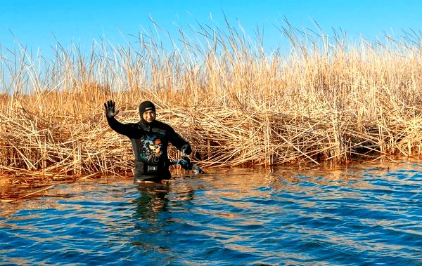
[[[421,156],[420,39],[352,43],[287,24],[291,50],[265,53],[259,36],[227,26],[199,25],[199,42],[181,30],[171,48],[145,34],[86,55],[57,44],[50,61],[1,48],[0,182],[130,176],[131,145],[108,127],[108,99],[123,122],[155,102],[205,168]]]

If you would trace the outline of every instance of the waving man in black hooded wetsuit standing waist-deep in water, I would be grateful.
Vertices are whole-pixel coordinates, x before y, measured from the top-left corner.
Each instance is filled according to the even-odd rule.
[[[122,124],[115,119],[115,102],[104,103],[108,125],[119,134],[126,135],[132,142],[135,155],[134,181],[160,181],[170,179],[167,147],[169,142],[179,151],[191,154],[191,145],[181,138],[174,129],[155,120],[155,105],[150,101],[141,102],[138,123]]]

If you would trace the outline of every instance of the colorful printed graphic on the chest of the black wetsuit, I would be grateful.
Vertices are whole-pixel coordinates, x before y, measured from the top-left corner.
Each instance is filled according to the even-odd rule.
[[[135,140],[136,154],[139,161],[158,165],[162,154],[162,142],[157,135],[144,135],[140,140]]]

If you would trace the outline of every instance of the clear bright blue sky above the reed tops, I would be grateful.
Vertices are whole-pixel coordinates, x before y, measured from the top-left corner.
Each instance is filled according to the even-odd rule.
[[[224,28],[224,16],[231,25],[238,20],[246,33],[264,29],[264,46],[286,45],[276,27],[287,18],[298,28],[316,29],[318,22],[326,34],[342,29],[347,36],[375,39],[388,33],[401,36],[402,30],[418,31],[422,25],[422,1],[8,1],[0,0],[0,46],[11,48],[15,41],[32,51],[51,53],[56,39],[63,46],[72,43],[89,51],[92,41],[104,39],[113,45],[131,41],[132,35],[153,28],[149,18],[172,36],[179,25],[209,25]],[[12,34],[13,33],[13,34]]]

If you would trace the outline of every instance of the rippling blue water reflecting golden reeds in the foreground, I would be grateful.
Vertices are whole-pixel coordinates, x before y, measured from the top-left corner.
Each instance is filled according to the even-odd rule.
[[[422,165],[226,169],[1,204],[0,265],[422,265]]]

